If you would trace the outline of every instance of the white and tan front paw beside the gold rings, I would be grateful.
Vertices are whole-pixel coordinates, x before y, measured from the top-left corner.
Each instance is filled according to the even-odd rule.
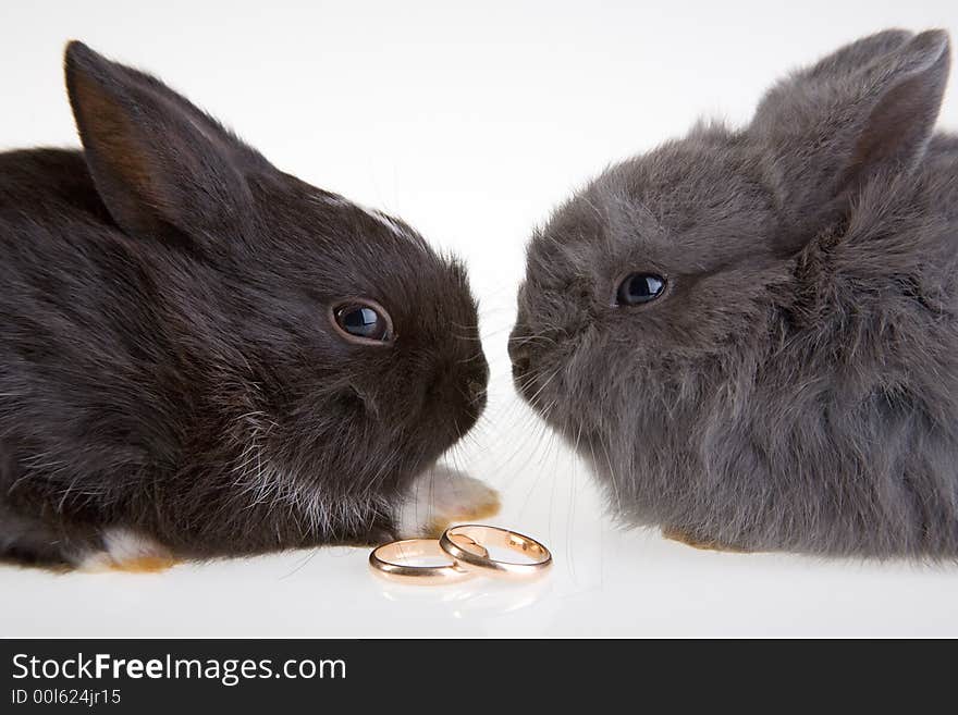
[[[451,523],[499,513],[499,492],[460,471],[437,467],[413,485],[398,515],[402,538],[439,537]]]

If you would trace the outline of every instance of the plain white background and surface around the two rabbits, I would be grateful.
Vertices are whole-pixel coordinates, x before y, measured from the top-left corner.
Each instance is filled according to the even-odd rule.
[[[717,554],[616,530],[516,400],[505,354],[524,243],[557,201],[700,114],[747,121],[788,69],[895,25],[958,30],[958,3],[4,3],[0,149],[76,144],[61,53],[81,38],[281,169],[466,259],[493,377],[454,461],[502,490],[493,522],[541,538],[556,567],[440,589],[385,585],[366,550],[342,547],[159,575],[0,567],[0,636],[958,634],[958,566]]]

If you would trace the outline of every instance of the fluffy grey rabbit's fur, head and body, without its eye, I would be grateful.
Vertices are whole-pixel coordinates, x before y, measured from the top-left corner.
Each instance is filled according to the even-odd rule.
[[[958,555],[958,137],[888,30],[616,165],[528,249],[517,389],[611,511],[751,551]],[[617,305],[631,272],[660,297]]]

